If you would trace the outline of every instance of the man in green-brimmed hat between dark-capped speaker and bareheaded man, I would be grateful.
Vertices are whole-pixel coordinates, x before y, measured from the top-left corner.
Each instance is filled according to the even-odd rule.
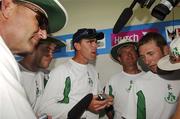
[[[127,118],[129,93],[133,89],[134,82],[143,78],[145,74],[138,68],[137,42],[129,38],[121,39],[112,47],[111,56],[122,65],[123,69],[110,78],[105,92],[114,97],[114,119]]]

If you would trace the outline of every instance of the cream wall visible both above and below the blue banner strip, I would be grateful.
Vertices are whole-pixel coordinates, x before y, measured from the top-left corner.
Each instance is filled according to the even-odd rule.
[[[82,27],[107,29],[113,28],[116,20],[124,8],[129,7],[133,0],[60,0],[62,5],[68,12],[69,21],[67,26],[58,33],[53,35],[72,34]],[[156,0],[154,5],[157,5]],[[152,6],[153,8],[153,6]],[[180,7],[176,7],[174,11],[175,19],[180,19],[178,11]],[[153,18],[151,9],[140,8],[136,4],[133,9],[134,13],[127,25],[144,24],[159,22]],[[171,12],[165,20],[172,20],[173,12]],[[51,68],[61,64],[67,58],[58,58],[52,63]],[[121,70],[121,66],[112,61],[107,55],[99,55],[96,61],[96,68],[100,73],[100,79],[105,82],[115,73]]]

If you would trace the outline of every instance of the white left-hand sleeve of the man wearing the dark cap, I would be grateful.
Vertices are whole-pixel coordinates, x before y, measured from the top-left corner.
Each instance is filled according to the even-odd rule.
[[[69,99],[68,103],[62,101],[67,79],[65,72],[67,72],[66,68],[60,67],[50,73],[50,79],[38,110],[39,114],[46,113],[53,116],[53,118],[67,118],[69,110],[76,104],[73,99]]]

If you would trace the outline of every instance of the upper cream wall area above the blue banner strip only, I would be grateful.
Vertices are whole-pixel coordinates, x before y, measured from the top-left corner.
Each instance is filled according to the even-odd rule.
[[[54,35],[74,33],[81,27],[97,29],[112,28],[124,8],[129,7],[133,0],[59,0],[69,15],[67,27]],[[159,0],[156,0],[157,5]],[[152,6],[152,8],[153,8]],[[151,9],[150,9],[151,10]],[[151,11],[140,8],[136,4],[133,16],[127,25],[157,22],[150,14]],[[180,18],[179,8],[175,8],[174,16]],[[165,20],[172,19],[172,12]]]

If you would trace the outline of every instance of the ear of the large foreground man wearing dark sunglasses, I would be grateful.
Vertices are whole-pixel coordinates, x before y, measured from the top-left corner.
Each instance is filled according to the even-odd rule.
[[[1,1],[1,12],[5,18],[8,18],[15,7],[13,0],[2,0]]]

